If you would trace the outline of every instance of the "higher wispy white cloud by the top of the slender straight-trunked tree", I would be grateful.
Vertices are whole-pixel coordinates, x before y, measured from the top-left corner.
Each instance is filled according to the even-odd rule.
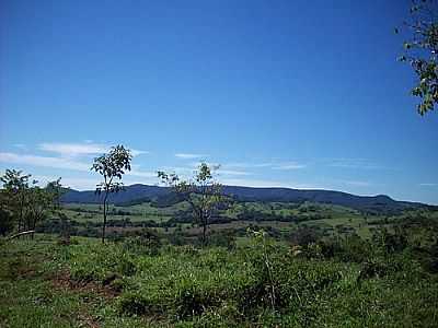
[[[82,155],[95,155],[110,151],[111,147],[101,143],[93,143],[90,140],[84,143],[60,143],[44,142],[38,144],[38,149],[45,152],[57,153],[62,157],[77,157]],[[147,154],[147,151],[131,150],[132,156]]]

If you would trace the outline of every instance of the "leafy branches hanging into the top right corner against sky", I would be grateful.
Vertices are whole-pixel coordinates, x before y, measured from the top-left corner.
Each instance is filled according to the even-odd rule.
[[[406,61],[417,75],[412,89],[420,97],[418,113],[424,115],[438,104],[438,3],[436,0],[413,0],[411,17],[404,22],[407,39],[401,61]],[[395,33],[401,33],[395,28]]]

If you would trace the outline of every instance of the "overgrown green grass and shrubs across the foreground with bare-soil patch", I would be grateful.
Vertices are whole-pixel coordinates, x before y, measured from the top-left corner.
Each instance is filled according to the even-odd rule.
[[[436,327],[438,278],[411,249],[364,260],[235,249],[101,245],[49,236],[0,246],[0,327]],[[304,256],[303,256],[304,255]]]

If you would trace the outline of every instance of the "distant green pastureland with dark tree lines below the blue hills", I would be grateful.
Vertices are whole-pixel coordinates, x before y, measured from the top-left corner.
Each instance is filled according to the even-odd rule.
[[[89,203],[65,203],[62,213],[78,225],[78,234],[97,236],[102,222],[102,207]],[[193,237],[200,234],[200,229],[193,222],[189,207],[180,202],[168,207],[155,207],[151,202],[134,206],[108,207],[108,232],[119,236],[138,232],[143,227],[153,227],[160,233],[182,233]],[[357,210],[320,203],[288,202],[235,202],[220,212],[219,221],[212,221],[210,232],[232,231],[242,235],[250,226],[272,229],[277,235],[288,235],[302,229],[318,230],[327,236],[342,236],[355,233],[362,238],[370,238],[376,225],[369,222],[395,220],[383,215],[368,215]],[[56,220],[56,218],[55,218]],[[379,223],[380,226],[382,223]],[[41,232],[54,232],[42,230]]]

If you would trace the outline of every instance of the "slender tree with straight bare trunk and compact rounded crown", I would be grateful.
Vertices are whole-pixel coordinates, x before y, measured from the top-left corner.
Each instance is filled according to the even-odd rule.
[[[107,154],[103,154],[94,159],[94,164],[91,171],[97,172],[103,177],[103,181],[96,185],[95,192],[97,195],[104,194],[103,204],[103,227],[102,227],[102,243],[105,243],[105,229],[106,229],[106,212],[108,195],[118,192],[123,188],[122,176],[125,171],[130,171],[130,161],[132,155],[130,150],[123,145],[116,145],[111,149]]]

